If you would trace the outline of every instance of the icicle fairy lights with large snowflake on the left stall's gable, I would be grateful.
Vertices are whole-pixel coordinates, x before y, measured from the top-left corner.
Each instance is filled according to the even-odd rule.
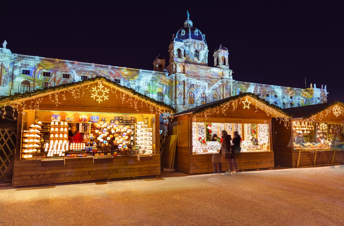
[[[87,87],[86,87],[87,86]],[[122,104],[128,104],[128,106],[130,105],[131,107],[134,107],[134,109],[139,112],[138,109],[138,105],[139,102],[141,102],[141,107],[147,106],[150,109],[151,115],[155,115],[155,114],[162,114],[163,119],[167,120],[167,119],[173,119],[173,111],[166,109],[164,107],[158,106],[155,103],[152,103],[148,100],[144,100],[142,98],[140,98],[139,96],[133,95],[127,91],[121,90],[121,89],[117,89],[117,87],[115,86],[116,90],[114,91],[114,89],[112,89],[112,85],[111,87],[108,89],[103,85],[103,82],[98,81],[96,83],[96,87],[91,87],[92,90],[89,89],[90,88],[90,83],[88,83],[88,85],[78,85],[78,87],[69,87],[69,88],[65,88],[62,91],[56,91],[56,93],[51,93],[49,96],[49,100],[51,102],[53,102],[56,106],[58,106],[59,104],[62,104],[62,101],[67,100],[66,98],[66,92],[71,93],[72,97],[74,99],[78,99],[80,97],[83,97],[85,95],[85,89],[88,90],[89,92],[91,92],[91,95],[89,96],[90,99],[96,100],[98,103],[109,100],[109,95],[106,95],[108,93],[114,93],[115,94],[115,98],[116,99],[120,99],[122,101]],[[119,92],[119,94],[118,94]],[[60,95],[60,93],[62,93],[62,98]],[[134,96],[134,100],[133,100],[133,96]],[[31,111],[39,111],[40,110],[40,103],[43,100],[44,94],[39,94],[37,95],[34,99],[32,97],[27,97],[27,98],[22,98],[19,100],[14,100],[14,101],[10,101],[12,102],[11,104],[4,104],[2,107],[2,111],[0,113],[0,115],[2,116],[3,119],[8,119],[8,120],[17,120],[17,118],[15,117],[14,113],[15,111],[18,112],[18,114],[22,114],[24,113],[25,110],[29,110],[29,112],[31,113]],[[136,98],[135,98],[136,97]],[[96,99],[97,98],[97,99]],[[62,100],[61,100],[62,99]],[[30,103],[25,103],[30,101]],[[6,117],[6,106],[11,106],[13,109],[13,114],[12,117],[13,119],[9,119],[8,117]],[[22,106],[21,111],[18,109],[20,109],[19,106]]]

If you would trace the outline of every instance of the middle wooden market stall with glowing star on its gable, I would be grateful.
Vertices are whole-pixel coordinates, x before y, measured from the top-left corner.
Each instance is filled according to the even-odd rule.
[[[235,154],[239,170],[272,169],[275,166],[271,142],[273,117],[278,117],[283,125],[288,122],[287,113],[252,93],[206,103],[174,115],[169,133],[178,134],[176,168],[188,174],[213,172],[212,154],[218,153],[221,144],[209,141],[212,134],[226,130],[232,136],[238,131],[243,139],[241,152]],[[251,138],[256,138],[258,144],[254,145]],[[228,170],[225,159],[222,164],[222,169]]]

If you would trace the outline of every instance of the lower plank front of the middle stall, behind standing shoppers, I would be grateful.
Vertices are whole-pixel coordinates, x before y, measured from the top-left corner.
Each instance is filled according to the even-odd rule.
[[[198,154],[190,157],[190,174],[214,172],[212,154]],[[275,166],[273,152],[241,152],[235,153],[239,170],[272,168]],[[227,171],[229,164],[222,159],[222,170]]]

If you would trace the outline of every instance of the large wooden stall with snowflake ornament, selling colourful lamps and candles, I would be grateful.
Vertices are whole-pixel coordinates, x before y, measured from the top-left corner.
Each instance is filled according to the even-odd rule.
[[[96,77],[0,104],[18,111],[15,187],[160,174],[162,102]]]

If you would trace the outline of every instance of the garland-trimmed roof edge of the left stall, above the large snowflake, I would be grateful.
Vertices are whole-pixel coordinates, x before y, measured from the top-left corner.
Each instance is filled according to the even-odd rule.
[[[139,99],[142,100],[146,100],[150,103],[156,104],[160,107],[165,108],[166,110],[171,111],[172,113],[175,113],[175,109],[173,107],[171,107],[170,105],[167,105],[163,102],[154,100],[146,95],[143,95],[141,93],[136,92],[135,90],[128,88],[126,86],[122,86],[116,82],[113,82],[103,76],[96,76],[94,78],[89,78],[89,79],[85,79],[79,82],[73,82],[73,83],[65,83],[65,84],[61,84],[61,85],[56,85],[56,86],[51,86],[51,87],[47,87],[43,90],[35,90],[33,92],[25,92],[25,93],[15,93],[14,95],[11,96],[4,96],[0,98],[0,106],[3,106],[5,104],[11,104],[11,102],[14,101],[21,101],[21,100],[30,100],[30,99],[35,99],[37,98],[38,95],[42,96],[42,94],[45,95],[50,95],[52,93],[55,93],[56,91],[60,91],[63,89],[68,89],[68,88],[72,88],[75,86],[85,86],[86,84],[91,84],[91,83],[95,83],[95,82],[105,82],[107,83],[109,86],[115,86],[123,91],[129,92],[133,95],[136,95]]]

